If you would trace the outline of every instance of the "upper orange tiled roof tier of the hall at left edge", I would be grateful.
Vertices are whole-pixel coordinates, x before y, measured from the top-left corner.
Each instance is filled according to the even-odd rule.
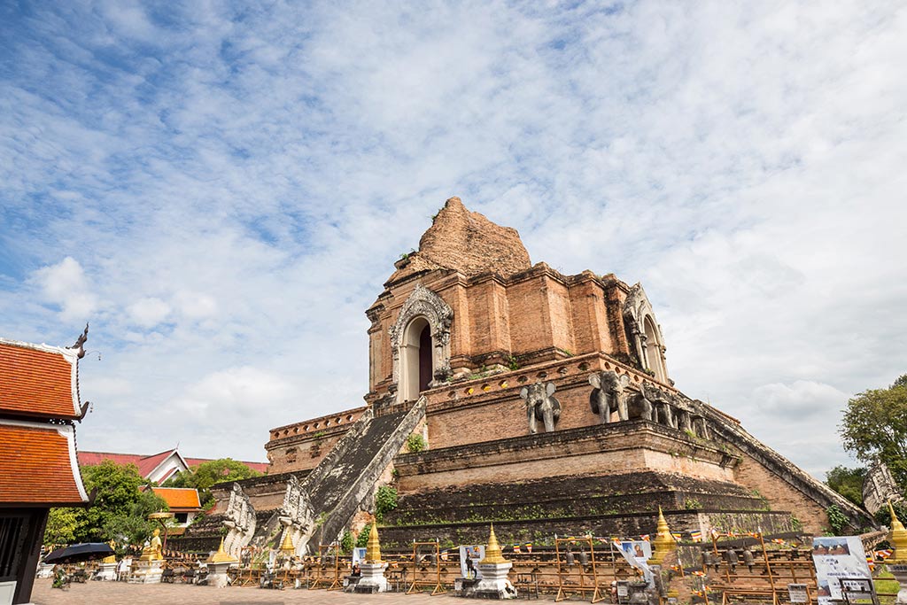
[[[75,367],[68,349],[0,339],[0,413],[77,418]]]

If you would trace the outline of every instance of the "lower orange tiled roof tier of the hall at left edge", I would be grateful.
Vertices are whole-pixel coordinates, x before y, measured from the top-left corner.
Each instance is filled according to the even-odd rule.
[[[75,461],[75,429],[0,419],[0,503],[88,502]]]

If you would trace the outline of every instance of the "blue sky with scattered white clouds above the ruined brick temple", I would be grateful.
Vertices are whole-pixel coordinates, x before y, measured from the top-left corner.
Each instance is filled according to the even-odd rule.
[[[458,195],[821,476],[907,372],[907,12],[810,4],[7,3],[0,334],[92,321],[80,447],[261,460]]]

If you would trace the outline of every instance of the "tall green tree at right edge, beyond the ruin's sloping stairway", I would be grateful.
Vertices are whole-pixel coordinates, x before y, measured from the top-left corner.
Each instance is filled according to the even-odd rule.
[[[907,485],[907,375],[853,397],[838,428],[844,448],[867,463],[877,456]]]

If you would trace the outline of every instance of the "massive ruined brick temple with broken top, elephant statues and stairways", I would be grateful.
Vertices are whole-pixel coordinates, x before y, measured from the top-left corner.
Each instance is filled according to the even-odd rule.
[[[489,521],[505,542],[651,533],[658,506],[703,534],[818,533],[832,505],[873,525],[676,388],[639,283],[532,264],[458,198],[394,269],[366,310],[365,405],[272,429],[268,476],[223,486],[196,539],[223,523],[234,551],[289,536],[305,552],[369,520],[384,484],[389,544],[470,543]]]

